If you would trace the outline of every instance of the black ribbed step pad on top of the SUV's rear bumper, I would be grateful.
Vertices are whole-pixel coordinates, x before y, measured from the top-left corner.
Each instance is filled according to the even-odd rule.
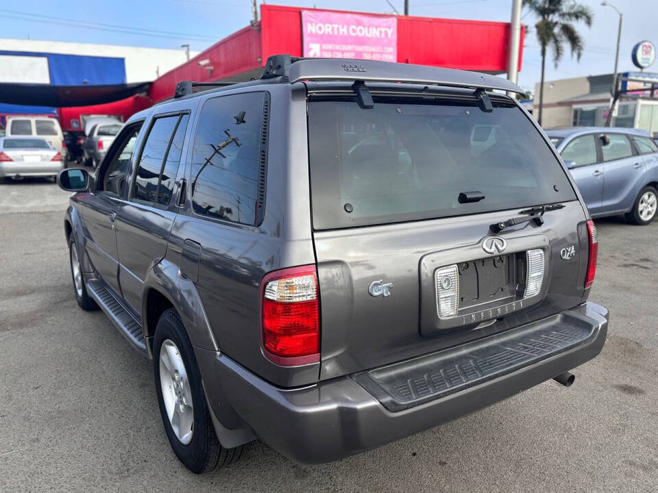
[[[557,315],[438,353],[352,375],[389,411],[454,394],[587,342],[592,326]],[[550,375],[553,377],[555,375]]]

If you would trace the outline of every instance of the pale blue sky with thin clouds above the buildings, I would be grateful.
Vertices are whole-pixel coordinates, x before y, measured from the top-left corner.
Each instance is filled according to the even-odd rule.
[[[402,0],[389,0],[398,12]],[[658,0],[610,0],[624,16],[620,45],[620,72],[634,70],[631,49],[636,42],[650,40],[658,45]],[[260,4],[262,0],[258,0]],[[248,25],[252,18],[249,0],[112,0],[66,2],[67,9],[53,8],[62,0],[9,0],[0,3],[1,38],[31,38],[91,42],[110,45],[180,49],[189,43],[202,50]],[[277,5],[354,10],[350,0],[271,0]],[[415,16],[467,18],[509,22],[511,0],[409,0]],[[585,40],[580,62],[565,53],[555,68],[546,61],[546,80],[612,73],[619,16],[600,0],[581,0],[594,12],[591,28],[577,25]],[[73,5],[75,5],[73,7]],[[393,13],[387,0],[361,0],[361,12]],[[522,23],[530,32],[524,42],[519,84],[534,90],[541,71],[541,55],[532,14],[522,12]],[[2,49],[0,42],[0,50]],[[483,47],[482,49],[486,49]],[[658,62],[652,67],[658,71]]]

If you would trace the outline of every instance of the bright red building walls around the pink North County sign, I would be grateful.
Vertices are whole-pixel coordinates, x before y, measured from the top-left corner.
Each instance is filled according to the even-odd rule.
[[[71,118],[80,114],[116,114],[127,118],[149,105],[173,96],[178,81],[245,81],[259,77],[270,55],[303,56],[302,8],[261,5],[261,20],[236,31],[185,64],[156,79],[146,97],[134,96],[106,105],[60,109],[62,128],[71,129]],[[313,10],[334,14],[354,14]],[[397,61],[400,63],[461,68],[487,73],[507,72],[509,23],[459,19],[394,17],[397,24]],[[522,27],[519,70],[525,27]],[[201,62],[201,63],[199,63]]]

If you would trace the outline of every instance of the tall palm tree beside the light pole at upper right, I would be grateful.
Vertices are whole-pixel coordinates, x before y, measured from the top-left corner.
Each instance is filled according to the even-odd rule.
[[[583,55],[583,38],[572,23],[584,22],[592,27],[594,13],[586,5],[575,0],[523,0],[523,6],[533,12],[539,21],[535,24],[537,41],[541,47],[541,84],[539,85],[539,118],[541,125],[541,107],[544,104],[544,67],[546,66],[546,49],[552,48],[555,68],[564,54],[565,42],[571,49],[571,55],[581,60]]]

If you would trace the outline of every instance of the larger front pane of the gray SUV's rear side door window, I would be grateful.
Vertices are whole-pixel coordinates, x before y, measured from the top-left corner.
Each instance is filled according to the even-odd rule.
[[[132,197],[146,202],[155,202],[160,181],[160,169],[164,155],[169,149],[171,134],[180,116],[157,118],[142,149],[137,175],[132,189]]]

